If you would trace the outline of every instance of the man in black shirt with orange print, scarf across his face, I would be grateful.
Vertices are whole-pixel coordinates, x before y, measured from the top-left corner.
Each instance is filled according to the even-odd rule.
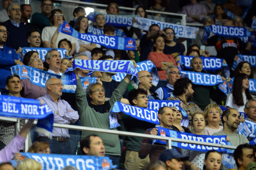
[[[234,26],[232,20],[226,20],[222,24],[223,26]],[[251,51],[252,42],[248,41],[247,44],[241,41],[240,38],[231,37],[231,36],[211,36],[205,42],[207,46],[215,46],[217,51],[217,58],[225,59],[228,67],[232,68],[234,57],[238,55],[239,51]],[[231,77],[233,76],[233,70],[231,71]]]

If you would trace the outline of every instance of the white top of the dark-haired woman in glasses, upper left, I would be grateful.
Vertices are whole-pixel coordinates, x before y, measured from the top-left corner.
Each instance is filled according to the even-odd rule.
[[[48,41],[49,44],[51,44],[51,38],[53,38],[53,34],[55,33],[55,31],[57,30],[57,28],[55,26],[46,26],[45,28],[43,28],[43,32],[42,32],[42,41]],[[61,41],[61,39],[67,39],[71,42],[71,44],[75,44],[76,39],[73,36],[69,36],[67,34],[64,33],[59,33],[58,38],[56,40],[56,47],[58,48],[58,43],[59,41]]]

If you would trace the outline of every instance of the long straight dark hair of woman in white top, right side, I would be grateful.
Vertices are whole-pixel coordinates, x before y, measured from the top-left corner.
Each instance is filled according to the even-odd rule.
[[[245,78],[248,78],[248,76],[243,73],[235,76],[235,78],[234,78],[233,93],[232,93],[233,94],[233,103],[238,106],[245,105],[243,97],[242,97],[242,80]],[[249,89],[245,90],[245,95],[246,95],[247,100],[252,99],[252,95],[250,95]]]

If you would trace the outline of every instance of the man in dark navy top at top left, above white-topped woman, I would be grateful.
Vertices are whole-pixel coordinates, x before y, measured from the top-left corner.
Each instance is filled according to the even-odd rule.
[[[53,10],[53,1],[51,0],[43,0],[41,2],[41,13],[35,12],[32,15],[31,23],[33,25],[36,25],[38,30],[40,31],[40,34],[42,34],[43,28],[45,26],[51,26],[51,23],[49,22],[49,14],[51,14],[51,10]]]

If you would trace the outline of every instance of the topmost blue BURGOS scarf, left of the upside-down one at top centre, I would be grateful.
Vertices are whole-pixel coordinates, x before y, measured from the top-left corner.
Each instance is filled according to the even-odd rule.
[[[95,22],[96,15],[101,14],[105,17],[106,25],[113,25],[113,26],[132,26],[132,19],[136,15],[113,15],[113,14],[103,14],[100,12],[90,12],[87,15],[87,18],[92,22]]]

